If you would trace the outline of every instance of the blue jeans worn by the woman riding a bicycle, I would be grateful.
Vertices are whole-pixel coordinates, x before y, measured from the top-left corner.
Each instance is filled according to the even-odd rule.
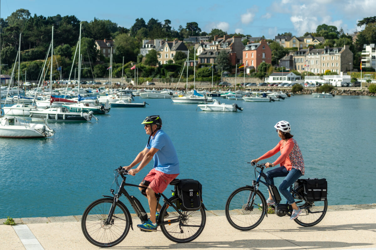
[[[284,166],[282,166],[279,168],[271,169],[265,174],[268,178],[269,184],[271,185],[274,185],[274,177],[286,177],[285,180],[283,180],[282,183],[279,185],[278,190],[283,196],[285,196],[288,204],[293,204],[295,200],[289,192],[288,188],[292,184],[294,184],[294,182],[297,179],[299,179],[299,177],[302,176],[302,172],[300,172],[300,170],[296,168],[292,168],[290,171],[288,171]]]

